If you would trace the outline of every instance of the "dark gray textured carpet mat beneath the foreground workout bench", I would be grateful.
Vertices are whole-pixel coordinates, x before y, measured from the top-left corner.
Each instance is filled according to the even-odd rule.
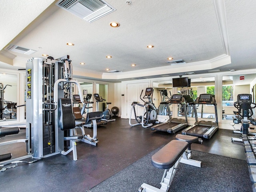
[[[164,170],[151,165],[150,152],[130,166],[104,180],[91,192],[135,192],[146,183],[160,188]],[[169,192],[252,192],[245,160],[192,151],[192,159],[202,161],[201,168],[180,163]]]

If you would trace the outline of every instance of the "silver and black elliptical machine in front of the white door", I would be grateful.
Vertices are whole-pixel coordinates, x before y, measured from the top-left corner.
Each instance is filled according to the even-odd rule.
[[[153,95],[153,88],[148,87],[146,88],[145,95],[143,98],[141,98],[143,90],[140,94],[140,99],[144,102],[144,104],[140,104],[139,102],[132,102],[132,108],[130,110],[130,118],[129,118],[129,124],[130,126],[134,127],[137,125],[142,125],[143,128],[147,128],[153,125],[154,122],[157,121],[156,116],[156,107],[154,106],[152,100],[151,100],[151,95]],[[147,98],[148,102],[144,101],[143,99]],[[141,116],[136,115],[136,110],[135,106],[141,106],[143,107],[143,112]],[[134,112],[135,120],[137,123],[132,124],[131,123],[131,118],[132,118],[132,112]]]

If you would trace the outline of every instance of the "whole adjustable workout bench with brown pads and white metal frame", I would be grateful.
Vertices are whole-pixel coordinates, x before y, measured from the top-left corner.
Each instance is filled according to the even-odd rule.
[[[167,192],[170,184],[174,178],[179,162],[201,167],[201,162],[191,160],[190,145],[194,142],[202,143],[202,140],[195,136],[176,135],[177,140],[172,140],[158,152],[156,152],[151,159],[151,164],[159,169],[164,169],[164,175],[161,181],[161,188],[158,189],[149,184],[142,184],[139,192]],[[168,170],[169,169],[169,170]]]

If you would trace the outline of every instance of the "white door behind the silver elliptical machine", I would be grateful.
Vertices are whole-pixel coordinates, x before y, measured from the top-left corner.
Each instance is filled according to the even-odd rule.
[[[127,117],[130,117],[130,111],[132,108],[132,102],[138,102],[140,104],[144,104],[144,102],[140,99],[140,94],[142,92],[142,98],[145,95],[146,88],[149,86],[148,82],[145,83],[132,83],[127,84]],[[148,101],[148,100],[145,100]],[[136,115],[141,116],[143,112],[143,107],[136,105],[135,107]],[[134,112],[132,112],[132,119],[135,119]]]

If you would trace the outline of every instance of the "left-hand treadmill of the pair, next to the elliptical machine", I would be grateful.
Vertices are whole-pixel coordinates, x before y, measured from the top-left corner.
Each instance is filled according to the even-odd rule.
[[[162,102],[161,104],[181,104],[185,110],[184,118],[170,118],[167,122],[154,125],[151,130],[164,131],[168,133],[175,133],[184,127],[188,126],[188,118],[186,112],[186,101],[181,94],[174,94],[167,102]]]

